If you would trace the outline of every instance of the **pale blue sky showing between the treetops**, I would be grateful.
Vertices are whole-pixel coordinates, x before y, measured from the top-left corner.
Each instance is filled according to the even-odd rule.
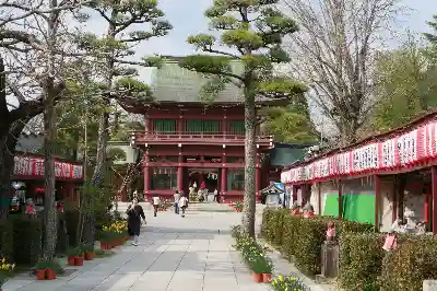
[[[180,1],[180,0],[179,0]],[[167,56],[185,56],[193,54],[196,50],[187,44],[187,36],[198,33],[208,33],[208,19],[203,16],[203,11],[211,7],[213,0],[160,0],[160,8],[165,12],[166,19],[174,28],[167,36],[152,38],[138,46],[138,57],[150,56],[154,54]],[[433,14],[437,14],[437,0],[400,0],[408,9],[406,14],[400,19],[399,27],[395,31],[423,33],[428,27],[426,21],[429,21]],[[176,4],[176,3],[179,4]],[[86,22],[86,28],[97,34],[104,34],[105,23],[98,18],[92,18]],[[395,47],[397,39],[390,40],[390,46]],[[151,81],[150,70],[140,70],[140,79],[145,82]]]

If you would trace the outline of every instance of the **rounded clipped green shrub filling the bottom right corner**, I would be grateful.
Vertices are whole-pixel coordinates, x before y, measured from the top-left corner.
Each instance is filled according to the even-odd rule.
[[[437,279],[437,240],[429,236],[403,241],[382,260],[381,291],[418,291],[426,279]]]

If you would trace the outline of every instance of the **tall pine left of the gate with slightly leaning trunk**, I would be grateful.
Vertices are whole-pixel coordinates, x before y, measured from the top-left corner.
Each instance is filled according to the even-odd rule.
[[[164,12],[157,5],[157,0],[95,0],[88,4],[107,25],[104,37],[85,34],[78,39],[79,46],[92,54],[94,65],[102,69],[98,79],[103,80],[101,102],[104,110],[98,118],[96,163],[91,178],[93,188],[104,188],[104,179],[108,173],[106,148],[109,139],[109,114],[113,110],[110,101],[132,105],[152,100],[147,84],[135,79],[137,68],[158,66],[161,59],[131,59],[135,55],[135,46],[150,38],[164,36],[172,30],[172,25],[162,19]],[[91,201],[84,203],[90,205]],[[83,240],[92,243],[95,218],[90,213],[84,220]]]

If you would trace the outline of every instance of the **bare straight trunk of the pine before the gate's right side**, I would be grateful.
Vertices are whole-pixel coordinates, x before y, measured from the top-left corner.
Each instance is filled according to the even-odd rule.
[[[249,89],[250,90],[250,89]],[[245,231],[255,237],[255,211],[256,211],[256,189],[255,189],[255,167],[257,159],[256,146],[256,108],[255,94],[246,94],[245,101],[245,199],[243,226]]]

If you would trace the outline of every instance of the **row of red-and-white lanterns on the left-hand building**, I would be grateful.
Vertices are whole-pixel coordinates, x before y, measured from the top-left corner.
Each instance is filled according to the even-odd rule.
[[[44,176],[44,159],[35,156],[15,156],[15,176]],[[55,177],[82,179],[83,166],[55,161]]]

